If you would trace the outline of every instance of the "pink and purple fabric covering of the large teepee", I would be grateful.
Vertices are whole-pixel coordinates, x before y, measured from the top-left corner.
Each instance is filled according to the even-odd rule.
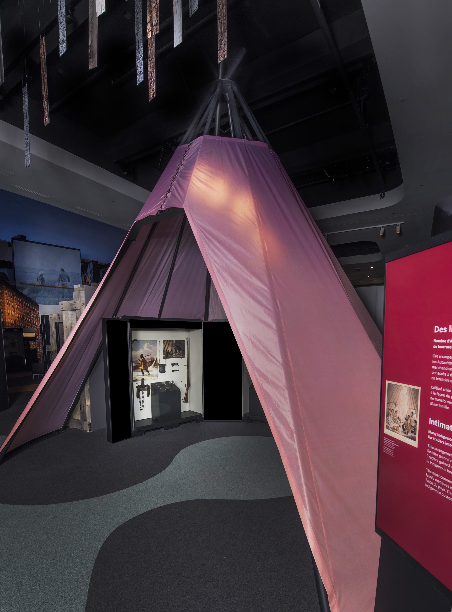
[[[162,316],[204,318],[208,269],[209,319],[231,324],[330,608],[373,612],[381,337],[266,144],[201,136],[176,150],[0,454],[62,427],[102,317],[158,316],[177,209],[188,223]]]

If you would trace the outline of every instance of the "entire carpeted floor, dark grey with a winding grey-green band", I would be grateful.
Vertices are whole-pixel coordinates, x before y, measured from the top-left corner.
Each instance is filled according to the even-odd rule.
[[[9,612],[319,611],[266,424],[43,440],[0,464],[0,548]]]

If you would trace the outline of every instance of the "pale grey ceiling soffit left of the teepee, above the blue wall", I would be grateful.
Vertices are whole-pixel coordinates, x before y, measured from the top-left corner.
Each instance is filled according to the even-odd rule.
[[[127,230],[149,192],[94,163],[0,121],[0,188]]]

